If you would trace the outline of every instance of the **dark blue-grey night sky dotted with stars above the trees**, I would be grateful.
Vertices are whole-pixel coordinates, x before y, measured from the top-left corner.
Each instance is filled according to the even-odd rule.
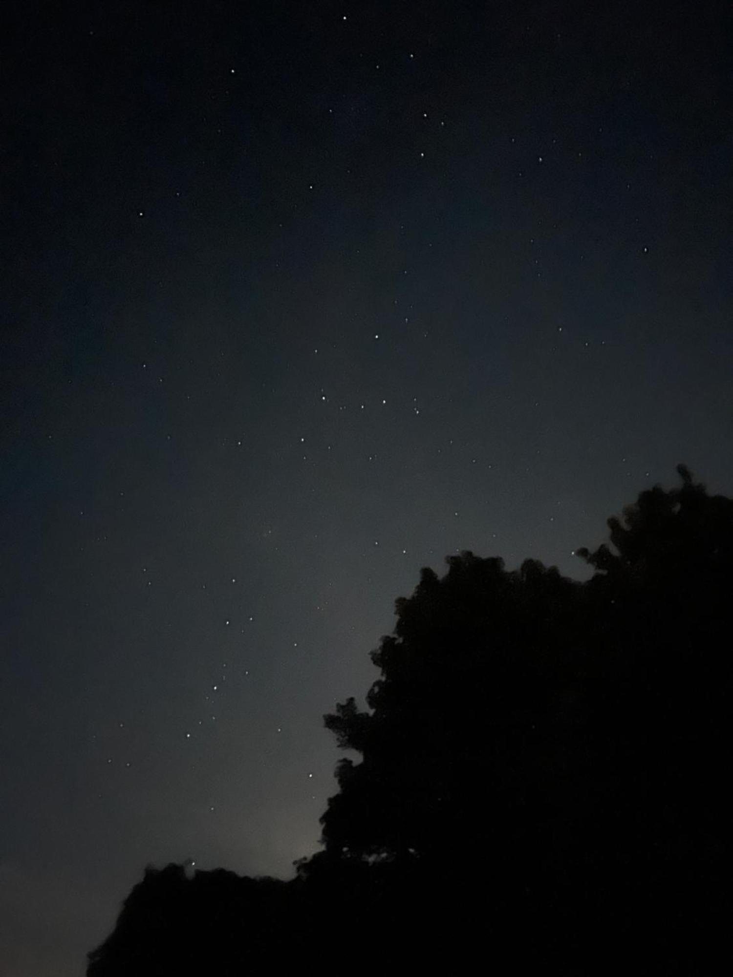
[[[0,972],[292,874],[419,569],[733,492],[727,3],[16,3]]]

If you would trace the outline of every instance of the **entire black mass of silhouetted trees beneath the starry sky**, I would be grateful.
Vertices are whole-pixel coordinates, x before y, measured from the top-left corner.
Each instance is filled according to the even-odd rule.
[[[367,710],[325,717],[358,757],[337,766],[323,851],[288,883],[147,875],[91,977],[223,920],[220,973],[282,939],[365,973],[477,953],[501,972],[724,972],[733,500],[677,470],[577,551],[586,582],[470,552],[423,570],[371,653]]]

